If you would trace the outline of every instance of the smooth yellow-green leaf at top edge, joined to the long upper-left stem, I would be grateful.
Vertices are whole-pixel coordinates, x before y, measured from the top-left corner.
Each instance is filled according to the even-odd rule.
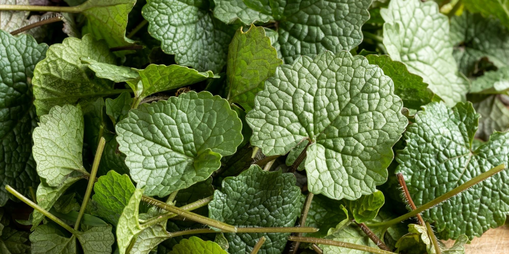
[[[136,0],[89,0],[80,5],[81,13],[87,17],[83,34],[92,34],[104,40],[108,47],[127,46],[134,43],[125,37],[127,15]]]

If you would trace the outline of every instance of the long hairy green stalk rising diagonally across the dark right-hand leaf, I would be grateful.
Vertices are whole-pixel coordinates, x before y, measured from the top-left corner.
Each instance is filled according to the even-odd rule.
[[[447,199],[450,199],[451,197],[454,197],[458,194],[460,194],[461,192],[463,192],[464,190],[472,187],[473,185],[479,183],[479,182],[482,182],[486,179],[488,179],[489,177],[493,176],[494,174],[502,171],[505,169],[505,165],[504,164],[501,164],[501,165],[498,165],[470,180],[468,180],[467,182],[461,184],[460,186],[450,190],[449,192],[447,192],[446,194],[418,207],[417,209],[413,210],[413,211],[410,211],[410,212],[407,212],[397,218],[394,218],[394,219],[391,219],[391,220],[387,220],[385,222],[382,222],[382,223],[374,223],[374,224],[370,224],[369,226],[370,227],[379,227],[379,226],[391,226],[391,225],[394,225],[394,224],[397,224],[397,223],[400,223],[401,221],[405,220],[405,219],[408,219],[408,218],[411,218],[413,216],[415,216],[416,214],[418,213],[421,213],[423,211],[426,211],[442,202],[444,202],[445,200]]]

